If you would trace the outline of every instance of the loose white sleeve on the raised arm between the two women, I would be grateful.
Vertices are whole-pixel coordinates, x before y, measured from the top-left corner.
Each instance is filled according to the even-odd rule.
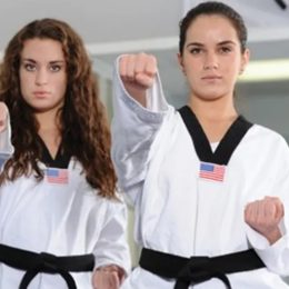
[[[129,96],[118,73],[113,73],[112,160],[124,192],[146,176],[149,150],[169,106],[163,97],[159,74],[147,92],[148,107]]]

